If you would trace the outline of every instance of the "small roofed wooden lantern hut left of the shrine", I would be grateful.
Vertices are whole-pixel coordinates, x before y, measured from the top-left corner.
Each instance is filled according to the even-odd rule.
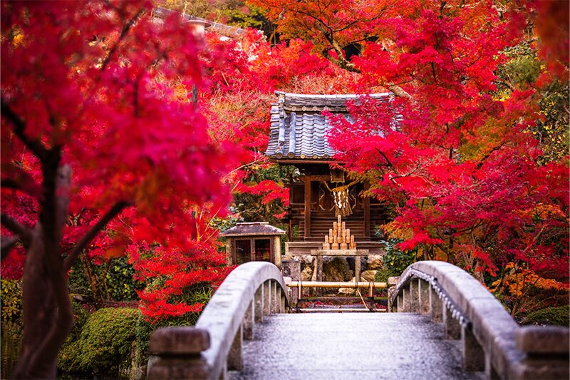
[[[226,240],[229,265],[250,261],[272,262],[281,269],[281,236],[285,231],[269,222],[237,223],[219,234]]]

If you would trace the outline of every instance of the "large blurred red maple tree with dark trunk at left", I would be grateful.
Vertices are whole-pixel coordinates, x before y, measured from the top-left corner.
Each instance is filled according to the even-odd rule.
[[[188,226],[196,205],[228,202],[231,155],[170,86],[200,86],[192,27],[151,5],[1,4],[2,256],[26,251],[18,378],[55,378],[73,323],[66,272],[84,250],[118,255],[134,238],[166,260],[219,261]],[[125,210],[133,222],[102,232]]]

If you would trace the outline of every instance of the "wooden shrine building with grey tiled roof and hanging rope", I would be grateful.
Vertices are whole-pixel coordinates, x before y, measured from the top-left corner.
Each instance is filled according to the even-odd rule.
[[[378,200],[364,197],[369,184],[351,181],[344,170],[331,169],[333,148],[326,135],[331,128],[324,110],[342,114],[350,120],[347,101],[357,95],[306,95],[276,91],[271,103],[271,131],[266,155],[279,165],[293,165],[300,176],[289,176],[289,210],[285,255],[299,255],[321,249],[341,215],[359,249],[378,254],[378,227],[388,222],[388,210]],[[388,101],[390,93],[371,94]],[[342,164],[342,163],[340,163]]]

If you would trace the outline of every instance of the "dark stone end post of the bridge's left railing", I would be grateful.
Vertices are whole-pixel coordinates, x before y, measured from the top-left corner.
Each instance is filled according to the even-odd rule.
[[[210,367],[200,354],[209,349],[206,330],[164,327],[150,335],[147,379],[207,379]]]

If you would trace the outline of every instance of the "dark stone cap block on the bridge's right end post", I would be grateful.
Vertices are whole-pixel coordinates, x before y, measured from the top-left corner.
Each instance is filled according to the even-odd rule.
[[[561,326],[522,327],[515,334],[517,348],[527,354],[567,354],[570,330]]]

